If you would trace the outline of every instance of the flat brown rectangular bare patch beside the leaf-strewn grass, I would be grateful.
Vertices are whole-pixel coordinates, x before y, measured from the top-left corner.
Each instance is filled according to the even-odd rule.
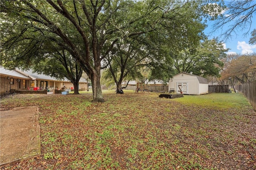
[[[0,114],[0,165],[40,155],[38,107],[15,107]]]

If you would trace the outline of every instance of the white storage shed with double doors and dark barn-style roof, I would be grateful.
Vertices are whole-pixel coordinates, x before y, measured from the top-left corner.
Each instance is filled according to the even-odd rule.
[[[169,92],[171,91],[177,94],[208,94],[208,80],[204,77],[196,76],[192,72],[180,72],[169,80]]]

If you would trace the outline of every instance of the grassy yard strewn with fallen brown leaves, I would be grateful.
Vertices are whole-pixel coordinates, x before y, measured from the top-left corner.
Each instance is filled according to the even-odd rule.
[[[14,95],[1,109],[38,105],[41,156],[2,169],[256,169],[256,112],[242,94],[159,98]]]

